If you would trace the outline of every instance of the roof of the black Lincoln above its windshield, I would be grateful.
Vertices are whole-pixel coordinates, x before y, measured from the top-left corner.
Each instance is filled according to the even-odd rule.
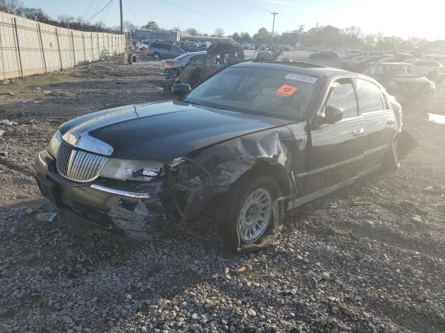
[[[305,61],[282,61],[282,60],[247,60],[238,62],[232,67],[257,67],[265,69],[280,69],[282,71],[293,71],[301,74],[308,74],[312,76],[321,77],[325,74],[339,73],[339,74],[355,74],[343,69],[326,67],[312,64]]]

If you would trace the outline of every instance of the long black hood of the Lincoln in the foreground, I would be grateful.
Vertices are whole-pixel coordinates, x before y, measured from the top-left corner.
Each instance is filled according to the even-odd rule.
[[[88,134],[112,156],[171,162],[205,146],[291,121],[204,108],[181,101],[127,105],[72,119],[60,132]]]

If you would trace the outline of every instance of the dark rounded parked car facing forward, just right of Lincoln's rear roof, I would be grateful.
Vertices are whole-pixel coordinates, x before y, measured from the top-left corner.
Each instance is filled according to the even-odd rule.
[[[400,103],[430,103],[435,99],[435,84],[423,76],[419,67],[412,64],[377,62],[363,74],[378,80]]]

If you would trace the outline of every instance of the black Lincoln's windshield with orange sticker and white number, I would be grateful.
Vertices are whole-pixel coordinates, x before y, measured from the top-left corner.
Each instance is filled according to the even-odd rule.
[[[229,67],[193,89],[184,101],[236,112],[303,117],[316,78],[289,71]]]

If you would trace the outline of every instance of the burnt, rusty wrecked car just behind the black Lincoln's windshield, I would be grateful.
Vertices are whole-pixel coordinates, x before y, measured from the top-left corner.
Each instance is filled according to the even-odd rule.
[[[244,51],[241,47],[223,42],[214,43],[209,46],[204,57],[191,59],[185,67],[181,67],[177,78],[163,80],[161,87],[170,89],[175,83],[187,83],[195,87],[219,69],[242,60],[244,60]]]

